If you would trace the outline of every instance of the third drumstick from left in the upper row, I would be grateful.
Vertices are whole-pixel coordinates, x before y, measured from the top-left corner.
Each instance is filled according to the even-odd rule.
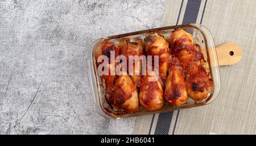
[[[159,78],[164,88],[164,82],[167,78],[168,61],[170,57],[169,44],[164,37],[159,35],[149,35],[144,38],[146,41],[146,53],[147,55],[159,56]]]

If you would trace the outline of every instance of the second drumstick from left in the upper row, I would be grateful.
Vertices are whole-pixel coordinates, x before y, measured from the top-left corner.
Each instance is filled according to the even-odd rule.
[[[127,59],[127,67],[129,67],[129,56],[135,57],[137,55],[140,57],[143,54],[143,48],[141,45],[142,40],[140,39],[133,39],[130,40],[129,38],[122,40],[119,48],[120,48],[120,54],[125,55]],[[134,61],[133,63],[133,72],[129,74],[131,76],[131,79],[133,79],[134,84],[136,84],[137,89],[141,87],[141,60]]]

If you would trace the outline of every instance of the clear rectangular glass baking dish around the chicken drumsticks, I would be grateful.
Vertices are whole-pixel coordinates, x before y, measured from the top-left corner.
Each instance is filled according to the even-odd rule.
[[[99,46],[105,40],[113,41],[117,38],[129,37],[129,38],[144,38],[148,33],[156,32],[162,36],[166,40],[170,39],[171,33],[177,29],[183,28],[186,32],[192,34],[195,44],[199,44],[201,46],[201,51],[204,54],[204,59],[207,65],[207,69],[209,71],[210,78],[213,80],[213,89],[210,93],[209,97],[206,100],[195,102],[191,98],[189,98],[187,104],[180,106],[172,106],[167,102],[164,102],[164,105],[161,109],[154,111],[144,110],[141,106],[136,113],[126,113],[126,112],[118,112],[112,110],[108,103],[106,103],[105,95],[104,95],[104,86],[102,86],[101,78],[97,74],[97,66],[96,66],[96,51],[100,49]],[[154,114],[161,113],[166,111],[185,109],[185,108],[193,108],[196,106],[207,105],[213,102],[220,93],[220,73],[218,69],[218,59],[216,48],[214,46],[214,41],[211,33],[205,28],[203,25],[199,24],[186,24],[186,25],[175,25],[170,27],[162,27],[155,29],[148,29],[144,31],[137,31],[131,33],[125,33],[122,35],[110,36],[106,38],[99,38],[94,41],[88,49],[87,57],[86,57],[86,65],[88,71],[88,79],[90,88],[92,91],[93,104],[96,111],[106,118],[124,118],[124,117],[134,117],[145,114]]]

